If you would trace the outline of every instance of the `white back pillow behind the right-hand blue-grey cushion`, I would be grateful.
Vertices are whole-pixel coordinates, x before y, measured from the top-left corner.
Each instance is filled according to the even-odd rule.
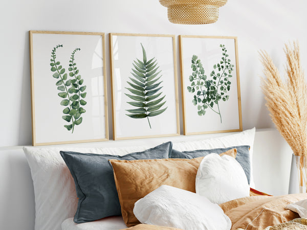
[[[253,176],[253,145],[255,138],[255,128],[238,132],[236,134],[221,136],[211,139],[202,139],[198,141],[178,142],[173,143],[173,148],[179,151],[191,151],[198,149],[216,149],[216,148],[228,148],[238,145],[250,146],[250,161],[251,161],[251,182],[250,186],[255,188],[254,176]]]

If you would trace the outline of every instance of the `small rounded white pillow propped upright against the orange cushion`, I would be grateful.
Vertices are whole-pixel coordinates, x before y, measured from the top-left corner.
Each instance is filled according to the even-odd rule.
[[[250,195],[242,166],[233,157],[216,153],[202,160],[195,178],[195,190],[218,204]]]

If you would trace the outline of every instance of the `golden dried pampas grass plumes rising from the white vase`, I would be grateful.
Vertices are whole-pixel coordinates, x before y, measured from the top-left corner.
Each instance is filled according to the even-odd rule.
[[[300,65],[298,42],[286,44],[287,81],[284,83],[271,57],[260,51],[264,65],[262,91],[276,128],[290,145],[295,155],[307,155],[307,83]]]

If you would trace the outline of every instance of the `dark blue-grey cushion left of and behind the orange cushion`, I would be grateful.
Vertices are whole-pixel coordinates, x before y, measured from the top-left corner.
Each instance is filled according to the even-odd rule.
[[[78,208],[74,222],[84,223],[108,216],[121,215],[121,208],[108,159],[160,159],[171,154],[167,142],[142,152],[124,156],[60,151],[75,181]]]

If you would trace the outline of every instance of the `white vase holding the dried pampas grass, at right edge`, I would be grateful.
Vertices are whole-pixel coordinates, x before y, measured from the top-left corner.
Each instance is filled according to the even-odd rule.
[[[292,154],[289,194],[305,193],[307,177],[307,156],[297,156]]]

